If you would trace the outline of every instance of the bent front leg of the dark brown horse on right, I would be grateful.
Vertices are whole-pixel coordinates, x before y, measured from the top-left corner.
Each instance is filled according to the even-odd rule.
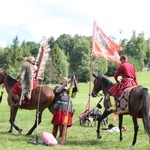
[[[106,118],[109,114],[111,114],[112,112],[111,111],[107,111],[106,109],[105,109],[105,111],[104,111],[104,113],[102,114],[102,116],[100,116],[97,120],[98,120],[98,125],[97,125],[97,139],[101,139],[102,138],[102,136],[101,136],[101,134],[100,134],[100,124],[101,124],[101,122],[102,122],[102,120],[104,119],[104,118]]]

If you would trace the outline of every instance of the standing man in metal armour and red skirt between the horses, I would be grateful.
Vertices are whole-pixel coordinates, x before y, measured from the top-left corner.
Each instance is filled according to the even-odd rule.
[[[69,112],[68,112],[67,127],[72,126],[73,110],[72,110],[72,100],[71,101],[69,100],[70,97],[69,97],[68,82],[69,80],[67,79],[67,77],[62,76],[60,80],[60,84],[54,88],[54,92],[55,92],[54,110],[55,112],[54,112],[51,123],[53,124],[52,134],[55,138],[57,137],[58,127],[60,127],[61,129],[60,136],[62,135],[64,119],[66,116],[66,112],[68,110],[68,105],[69,105]],[[74,83],[75,84],[73,87],[73,92],[77,92],[77,84],[76,82]]]

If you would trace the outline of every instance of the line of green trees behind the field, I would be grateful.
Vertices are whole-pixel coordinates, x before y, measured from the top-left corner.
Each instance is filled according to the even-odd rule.
[[[49,37],[48,43],[51,51],[45,66],[45,84],[58,83],[62,75],[70,77],[72,73],[76,75],[79,82],[88,82],[90,67],[94,73],[108,76],[113,76],[117,69],[116,63],[99,57],[92,57],[92,66],[90,66],[92,37],[78,34],[72,37],[69,34],[62,34],[56,40],[54,37]],[[136,32],[133,31],[129,40],[120,40],[119,44],[123,47],[123,51],[119,52],[119,55],[127,55],[129,62],[136,67],[137,71],[149,67],[150,39],[145,39],[144,33],[136,35]],[[12,45],[0,48],[0,64],[7,64],[6,72],[16,78],[22,65],[16,59],[30,55],[36,58],[38,50],[39,43],[23,41],[19,45],[19,38],[16,36]]]

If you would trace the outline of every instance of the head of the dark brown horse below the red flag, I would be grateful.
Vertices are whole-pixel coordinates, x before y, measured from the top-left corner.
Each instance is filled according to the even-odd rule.
[[[95,74],[93,74],[93,76],[95,77],[94,79],[94,86],[93,86],[93,90],[92,90],[92,97],[96,97],[99,95],[99,91],[102,90],[101,88],[101,84],[100,84],[100,75],[96,76]]]

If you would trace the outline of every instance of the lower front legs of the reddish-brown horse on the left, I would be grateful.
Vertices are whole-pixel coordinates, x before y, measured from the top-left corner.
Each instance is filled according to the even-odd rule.
[[[20,129],[18,126],[16,126],[14,124],[17,111],[18,111],[18,108],[15,108],[15,107],[11,106],[11,109],[10,109],[10,119],[9,119],[11,127],[10,127],[10,130],[8,132],[12,132],[12,128],[14,127],[20,134],[23,134],[23,130]]]

